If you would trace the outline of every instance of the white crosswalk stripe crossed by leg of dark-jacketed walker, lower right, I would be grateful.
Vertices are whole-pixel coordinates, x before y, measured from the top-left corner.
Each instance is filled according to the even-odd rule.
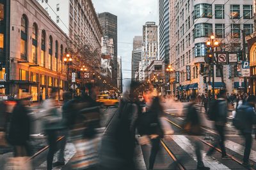
[[[189,141],[188,138],[182,135],[173,135],[172,136],[173,141],[177,143],[177,145],[180,146],[185,152],[187,152],[195,161],[196,159],[196,154],[195,154],[195,148],[191,144],[191,141]],[[207,157],[206,153],[202,150],[202,157],[204,158],[204,164],[207,167],[210,167],[211,169],[229,169],[227,166],[224,164],[221,164],[218,160],[214,160],[211,157]]]

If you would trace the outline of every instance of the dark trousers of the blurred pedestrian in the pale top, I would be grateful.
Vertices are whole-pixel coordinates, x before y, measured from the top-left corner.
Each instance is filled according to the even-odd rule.
[[[57,133],[55,130],[47,130],[46,134],[49,145],[49,151],[47,154],[47,170],[51,170],[54,153],[57,151]]]

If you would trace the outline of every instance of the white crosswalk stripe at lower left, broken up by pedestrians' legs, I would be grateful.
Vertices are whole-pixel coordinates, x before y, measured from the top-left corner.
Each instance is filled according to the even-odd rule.
[[[54,154],[53,162],[57,161],[57,157],[58,157],[59,152]],[[70,159],[72,159],[72,157],[75,155],[75,153],[76,153],[76,148],[75,148],[74,144],[73,143],[67,143],[67,145],[65,147],[65,151],[64,151],[65,164],[67,164],[67,162]],[[36,170],[45,169],[45,167],[47,167],[47,162],[46,161],[43,162],[39,167],[37,167]],[[54,168],[52,168],[52,170],[61,170],[61,167],[54,167]]]

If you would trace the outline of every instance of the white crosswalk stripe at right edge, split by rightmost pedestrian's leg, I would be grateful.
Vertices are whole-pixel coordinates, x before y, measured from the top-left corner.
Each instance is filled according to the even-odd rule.
[[[225,141],[226,148],[238,153],[239,155],[244,155],[244,146],[238,143],[234,143],[233,141],[227,140]],[[251,150],[250,159],[256,161],[256,152]]]

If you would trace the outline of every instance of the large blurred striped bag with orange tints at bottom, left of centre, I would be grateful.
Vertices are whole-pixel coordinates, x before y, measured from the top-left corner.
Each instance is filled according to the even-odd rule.
[[[74,141],[76,154],[71,159],[72,169],[87,169],[97,166],[99,162],[99,142],[97,136],[92,139],[79,139]]]

